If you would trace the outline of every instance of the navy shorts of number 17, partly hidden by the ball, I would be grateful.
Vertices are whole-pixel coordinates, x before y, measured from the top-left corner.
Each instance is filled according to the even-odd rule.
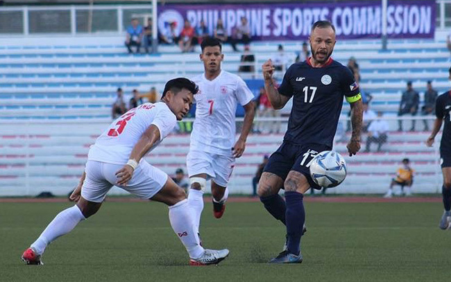
[[[284,141],[278,150],[269,157],[263,172],[274,173],[285,180],[289,171],[295,170],[307,177],[310,187],[320,190],[322,187],[316,184],[310,176],[310,161],[319,152],[330,150],[332,148],[323,144],[296,145]]]

